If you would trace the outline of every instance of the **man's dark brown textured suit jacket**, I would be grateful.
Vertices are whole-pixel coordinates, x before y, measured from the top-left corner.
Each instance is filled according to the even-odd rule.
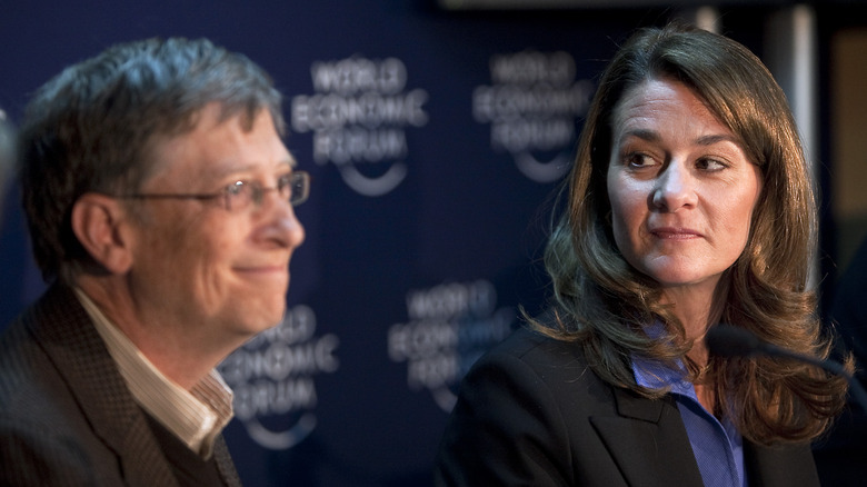
[[[215,459],[240,486],[222,438]],[[0,339],[0,485],[177,486],[73,291],[53,286]]]

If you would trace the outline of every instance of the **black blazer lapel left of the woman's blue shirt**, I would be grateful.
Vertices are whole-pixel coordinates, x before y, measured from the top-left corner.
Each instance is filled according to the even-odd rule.
[[[669,397],[650,400],[614,388],[619,416],[590,417],[630,486],[702,487],[680,413]]]

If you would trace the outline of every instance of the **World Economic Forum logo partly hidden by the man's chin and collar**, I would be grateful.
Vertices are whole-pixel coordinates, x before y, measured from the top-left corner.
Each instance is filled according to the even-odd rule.
[[[303,305],[259,334],[219,366],[235,392],[235,417],[268,449],[291,448],[316,428],[316,376],[340,362],[336,335],[316,335],[316,315]]]

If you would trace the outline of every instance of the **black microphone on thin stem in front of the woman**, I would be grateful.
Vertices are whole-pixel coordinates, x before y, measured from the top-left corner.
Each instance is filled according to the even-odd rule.
[[[853,377],[844,367],[843,364],[834,360],[820,360],[816,357],[808,355],[797,354],[791,350],[787,350],[776,345],[768,344],[760,340],[750,331],[744,328],[734,327],[730,325],[717,325],[711,327],[705,336],[705,342],[711,354],[719,357],[756,357],[756,356],[770,356],[770,357],[785,357],[793,360],[807,362],[825,369],[831,374],[844,377],[849,382],[849,390],[851,391],[855,401],[863,410],[867,411],[867,392],[865,392],[860,382]]]

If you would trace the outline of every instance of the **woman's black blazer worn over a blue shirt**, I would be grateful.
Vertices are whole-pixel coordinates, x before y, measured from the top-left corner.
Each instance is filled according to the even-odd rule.
[[[750,487],[818,486],[808,445],[744,441]],[[520,329],[464,379],[438,486],[701,487],[680,413],[602,381],[578,347]]]

